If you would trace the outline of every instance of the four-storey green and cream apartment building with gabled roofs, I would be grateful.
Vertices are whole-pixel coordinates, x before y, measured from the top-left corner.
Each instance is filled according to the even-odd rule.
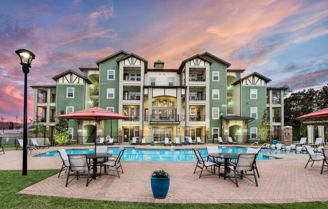
[[[53,116],[61,110],[100,107],[130,118],[101,121],[98,130],[94,121],[69,121],[72,139],[83,136],[83,142],[89,142],[98,134],[123,143],[135,136],[148,142],[164,137],[174,141],[176,136],[249,141],[258,138],[257,128],[267,111],[272,135],[281,137],[283,89],[267,87],[271,80],[257,72],[242,77],[244,69],[228,69],[230,63],[208,52],[175,69],[165,68],[160,60],[148,66],[146,59],[123,50],[96,64],[80,67],[80,73],[67,70],[55,75],[55,85],[31,86],[34,112],[44,118],[42,123],[53,127]]]

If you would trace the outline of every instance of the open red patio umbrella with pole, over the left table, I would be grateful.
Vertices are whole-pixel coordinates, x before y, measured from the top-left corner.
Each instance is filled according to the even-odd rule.
[[[123,116],[118,113],[104,110],[102,108],[90,108],[87,110],[76,111],[73,113],[67,113],[61,116],[55,116],[55,118],[73,119],[73,120],[95,120],[96,121],[96,140],[95,140],[95,154],[97,148],[97,121],[102,120],[125,120],[128,116]]]

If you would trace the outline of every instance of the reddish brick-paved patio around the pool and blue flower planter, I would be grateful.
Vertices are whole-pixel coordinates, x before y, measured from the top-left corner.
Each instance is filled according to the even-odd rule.
[[[150,147],[150,146],[149,146]],[[183,146],[190,148],[189,146]],[[201,148],[204,146],[198,146]],[[76,147],[75,147],[76,148]],[[85,147],[84,147],[85,148]],[[144,148],[144,147],[143,147]],[[153,147],[151,147],[153,148]],[[156,147],[163,148],[163,147]],[[51,148],[58,149],[58,148]],[[68,148],[67,148],[68,149]],[[2,168],[20,169],[21,151],[0,155]],[[18,193],[62,196],[114,201],[166,203],[286,203],[296,201],[328,201],[328,172],[306,168],[307,155],[280,155],[283,159],[257,162],[259,187],[247,179],[238,179],[239,187],[216,175],[198,178],[193,174],[195,162],[132,162],[122,161],[121,178],[103,175],[85,186],[86,179],[74,179],[65,187],[66,176],[51,176]],[[14,163],[10,161],[14,160]],[[28,157],[29,169],[58,169],[58,157]],[[319,165],[319,163],[315,163]],[[150,174],[155,169],[170,173],[168,196],[155,199],[150,186]],[[223,170],[222,170],[223,171]]]

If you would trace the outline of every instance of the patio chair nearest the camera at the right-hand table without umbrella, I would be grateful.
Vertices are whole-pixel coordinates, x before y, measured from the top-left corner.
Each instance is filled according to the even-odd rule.
[[[238,159],[235,164],[232,162],[228,162],[230,164],[228,165],[228,168],[233,170],[234,175],[233,177],[230,177],[228,175],[227,178],[229,178],[238,187],[237,176],[239,176],[240,179],[242,179],[243,177],[249,179],[247,176],[254,176],[255,182],[252,181],[251,179],[249,180],[255,183],[256,186],[259,186],[255,174],[256,156],[257,156],[256,153],[243,153],[238,155]],[[253,173],[245,173],[247,171],[253,171]],[[235,182],[231,178],[234,178]]]

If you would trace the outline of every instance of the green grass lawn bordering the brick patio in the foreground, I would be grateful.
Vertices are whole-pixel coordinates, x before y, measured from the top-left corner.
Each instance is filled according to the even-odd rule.
[[[22,176],[20,170],[0,170],[1,208],[328,208],[328,202],[300,202],[289,204],[156,204],[113,202],[64,197],[16,194],[23,188],[41,181],[58,170],[29,170]],[[251,191],[250,191],[251,192]]]

